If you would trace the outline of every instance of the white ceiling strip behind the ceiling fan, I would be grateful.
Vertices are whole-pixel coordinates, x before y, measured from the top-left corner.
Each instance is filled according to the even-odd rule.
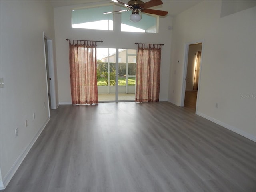
[[[127,3],[127,0],[120,0],[121,2]],[[188,8],[198,4],[202,0],[162,0],[163,5],[152,7],[150,9],[158,9],[168,11],[168,15],[176,16],[177,14],[187,10]],[[70,6],[70,5],[78,5],[78,4],[88,4],[94,2],[111,2],[110,0],[50,0],[53,7],[62,7],[62,6]],[[144,0],[144,2],[148,2],[148,0]]]

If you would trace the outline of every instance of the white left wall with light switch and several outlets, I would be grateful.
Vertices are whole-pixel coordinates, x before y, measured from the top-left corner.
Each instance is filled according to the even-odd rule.
[[[54,23],[53,8],[47,1],[0,3],[1,78],[5,84],[0,89],[0,165],[6,187],[49,120],[43,31],[54,39]]]

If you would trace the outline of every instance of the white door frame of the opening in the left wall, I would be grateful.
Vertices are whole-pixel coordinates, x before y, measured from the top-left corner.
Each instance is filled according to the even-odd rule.
[[[48,86],[50,86],[50,96],[51,96],[51,109],[56,109],[56,88],[55,88],[55,73],[54,73],[54,60],[53,60],[53,45],[52,39],[48,38],[48,36],[43,32],[44,39],[47,40],[47,51],[48,51],[48,66],[49,66],[49,76],[51,78],[50,85],[48,85],[47,80],[47,63],[46,63],[46,45],[44,42],[44,58],[45,58],[45,70],[46,70],[46,85],[47,85],[47,97],[48,93]],[[49,97],[48,97],[48,106],[49,106]],[[49,116],[50,116],[50,107],[49,107]]]

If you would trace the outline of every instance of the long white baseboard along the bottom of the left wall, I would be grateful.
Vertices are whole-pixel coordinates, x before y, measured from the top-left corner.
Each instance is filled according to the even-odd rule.
[[[14,176],[15,172],[18,170],[19,166],[22,164],[22,161],[24,160],[24,158],[27,156],[28,152],[30,151],[30,149],[32,148],[32,146],[34,145],[34,143],[36,142],[37,138],[40,136],[40,134],[42,133],[42,131],[44,130],[45,126],[47,125],[47,123],[49,122],[50,118],[48,117],[46,122],[44,122],[43,126],[40,128],[40,130],[36,133],[36,135],[34,136],[34,138],[32,139],[32,141],[30,142],[30,144],[27,146],[27,148],[24,150],[24,152],[22,152],[18,158],[16,159],[16,161],[14,162],[14,164],[12,165],[12,167],[10,168],[10,170],[8,171],[8,173],[6,174],[6,176],[3,178],[3,180],[1,181],[1,190],[5,189],[6,186],[9,184],[10,180],[12,179],[12,177]]]

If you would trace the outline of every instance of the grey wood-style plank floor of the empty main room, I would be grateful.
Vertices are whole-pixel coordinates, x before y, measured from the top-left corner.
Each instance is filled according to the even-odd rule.
[[[62,105],[3,192],[255,192],[256,143],[169,102]]]

